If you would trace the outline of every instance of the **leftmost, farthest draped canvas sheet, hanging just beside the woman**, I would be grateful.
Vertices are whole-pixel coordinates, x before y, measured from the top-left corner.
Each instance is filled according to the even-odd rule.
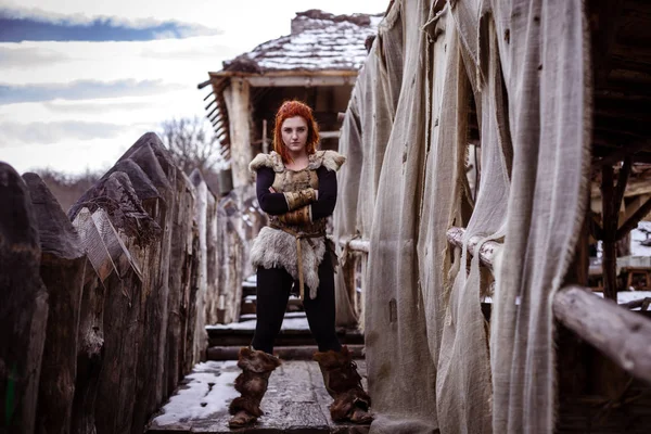
[[[344,118],[340,152],[348,159],[337,179],[341,196],[334,210],[335,240],[370,239],[380,171],[403,80],[403,22],[399,8],[395,8],[380,25]],[[346,259],[345,252],[341,258]],[[363,323],[350,307],[343,273],[335,276],[335,288],[337,326]]]

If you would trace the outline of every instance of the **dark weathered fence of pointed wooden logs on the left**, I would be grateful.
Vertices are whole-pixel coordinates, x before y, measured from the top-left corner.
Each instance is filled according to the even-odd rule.
[[[154,133],[67,216],[0,163],[1,431],[142,433],[205,358],[206,322],[238,319],[243,196],[215,197]]]

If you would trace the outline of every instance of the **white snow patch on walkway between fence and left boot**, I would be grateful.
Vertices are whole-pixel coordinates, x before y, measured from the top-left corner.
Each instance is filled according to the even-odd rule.
[[[155,418],[155,423],[165,426],[225,413],[227,403],[240,396],[233,387],[239,374],[235,360],[197,363],[186,376],[188,384],[163,407],[163,414]],[[201,406],[197,406],[200,400]]]

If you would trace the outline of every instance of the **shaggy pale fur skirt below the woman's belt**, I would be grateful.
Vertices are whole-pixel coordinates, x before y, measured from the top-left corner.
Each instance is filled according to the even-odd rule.
[[[303,278],[309,288],[309,297],[316,298],[319,288],[319,265],[326,254],[326,238],[301,240],[303,256]],[[298,280],[296,239],[286,232],[270,227],[260,229],[260,233],[251,247],[253,267],[284,268],[294,280]]]

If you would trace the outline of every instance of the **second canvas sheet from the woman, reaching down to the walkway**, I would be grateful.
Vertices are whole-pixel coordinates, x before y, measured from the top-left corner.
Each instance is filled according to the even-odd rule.
[[[417,260],[427,127],[422,116],[427,41],[421,27],[429,10],[427,1],[396,1],[392,8],[404,29],[404,69],[373,207],[365,306],[369,390],[378,412],[371,431],[379,433],[437,429],[435,365]]]

